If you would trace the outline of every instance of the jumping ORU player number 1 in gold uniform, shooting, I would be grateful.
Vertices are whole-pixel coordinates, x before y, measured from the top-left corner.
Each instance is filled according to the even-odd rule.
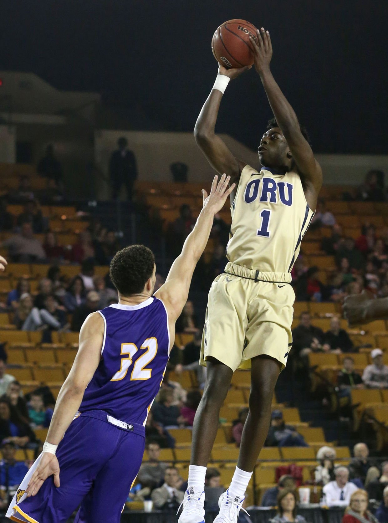
[[[198,146],[219,173],[236,183],[231,194],[232,226],[224,274],[212,283],[202,336],[201,363],[207,381],[192,431],[191,464],[179,523],[204,521],[203,485],[218,428],[220,407],[237,368],[251,369],[249,414],[237,467],[220,497],[216,523],[236,523],[258,454],[266,439],[271,401],[292,345],[295,295],[291,269],[313,217],[322,170],[295,112],[271,71],[268,31],[257,31],[254,65],[275,119],[261,138],[258,172],[214,134],[227,83],[248,69],[222,65],[195,126]],[[255,132],[255,130],[253,129]]]

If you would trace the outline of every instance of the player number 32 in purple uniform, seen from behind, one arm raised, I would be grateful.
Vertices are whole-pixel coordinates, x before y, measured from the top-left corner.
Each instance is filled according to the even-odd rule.
[[[122,249],[110,265],[119,303],[90,314],[66,378],[43,452],[7,517],[32,523],[119,523],[144,452],[145,421],[161,385],[193,270],[227,196],[230,178],[203,191],[203,209],[165,284],[153,295],[150,249]],[[58,447],[58,450],[57,450]],[[93,486],[93,488],[92,488]]]

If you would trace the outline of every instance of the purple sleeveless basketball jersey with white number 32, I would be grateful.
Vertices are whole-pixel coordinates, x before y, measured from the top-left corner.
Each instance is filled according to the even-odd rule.
[[[145,424],[168,361],[165,306],[153,297],[98,312],[105,323],[101,361],[79,412],[98,409],[125,422]]]

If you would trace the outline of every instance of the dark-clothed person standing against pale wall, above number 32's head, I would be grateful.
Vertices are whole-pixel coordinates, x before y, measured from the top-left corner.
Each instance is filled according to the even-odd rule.
[[[128,149],[128,141],[121,137],[117,141],[118,149],[110,156],[109,175],[112,185],[112,198],[119,197],[122,185],[127,188],[127,199],[132,201],[132,189],[135,179],[138,177],[138,168],[133,151]]]

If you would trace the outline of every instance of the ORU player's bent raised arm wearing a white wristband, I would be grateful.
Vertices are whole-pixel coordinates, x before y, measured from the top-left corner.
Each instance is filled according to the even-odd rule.
[[[218,117],[218,111],[220,109],[223,90],[225,90],[229,80],[236,78],[248,69],[250,69],[250,67],[225,69],[222,65],[219,66],[216,82],[199,113],[194,128],[194,136],[197,145],[207,157],[210,165],[218,173],[226,173],[229,175],[232,181],[237,181],[246,164],[241,160],[237,160],[237,158],[233,156],[221,138],[214,133],[214,129]]]

